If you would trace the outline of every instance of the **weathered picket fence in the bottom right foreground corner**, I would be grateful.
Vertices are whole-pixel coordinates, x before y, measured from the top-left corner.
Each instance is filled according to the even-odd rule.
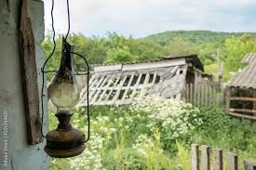
[[[201,152],[201,155],[199,155],[199,152]],[[191,145],[192,170],[222,170],[224,161],[226,170],[238,170],[238,155],[228,152],[225,157],[226,159],[223,160],[223,153],[220,149],[212,149],[212,151],[210,151],[209,146],[203,145],[201,146],[201,151],[199,151],[197,144]],[[249,160],[245,160],[242,166],[245,170],[256,170],[256,164],[251,163]]]

